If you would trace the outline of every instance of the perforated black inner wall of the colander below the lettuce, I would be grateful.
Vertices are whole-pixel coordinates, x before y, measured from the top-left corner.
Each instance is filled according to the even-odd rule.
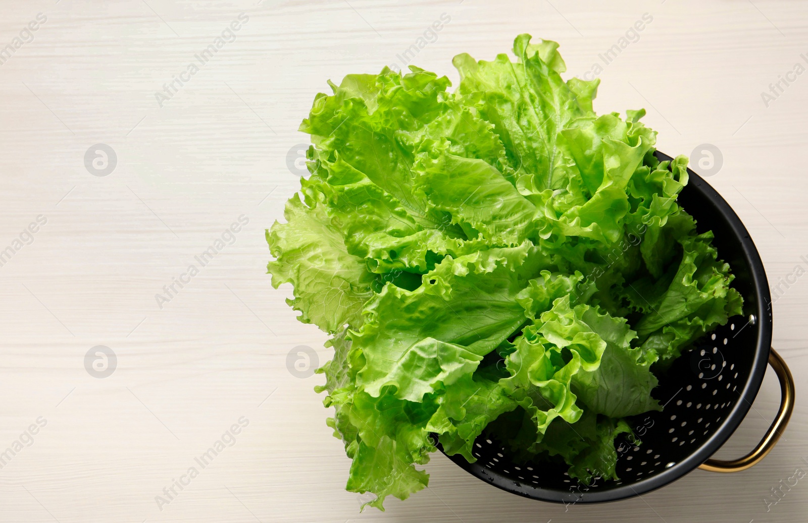
[[[485,436],[478,437],[474,443],[476,465],[485,469],[478,475],[504,483],[499,487],[507,488],[510,482],[522,490],[549,490],[556,497],[569,492],[573,500],[585,500],[587,494],[591,496],[593,492],[632,485],[659,475],[708,441],[735,405],[743,401],[740,390],[749,378],[756,331],[756,324],[743,316],[735,316],[711,336],[697,342],[696,349],[682,354],[667,373],[660,376],[659,387],[654,389],[653,395],[664,405],[663,410],[630,417],[629,425],[636,436],[621,435],[616,441],[620,479],[595,477],[586,485],[580,484],[567,475],[566,467],[544,461],[515,461],[507,446]],[[457,457],[453,458],[462,464]],[[536,494],[536,497],[545,497],[540,492]]]

